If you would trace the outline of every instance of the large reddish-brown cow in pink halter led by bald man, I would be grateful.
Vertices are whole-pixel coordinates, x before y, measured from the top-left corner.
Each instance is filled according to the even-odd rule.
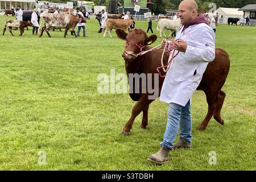
[[[155,40],[157,39],[156,35],[151,35],[150,37],[148,37],[146,32],[136,28],[132,30],[129,34],[121,29],[117,29],[115,32],[120,39],[126,40],[126,49],[123,52],[122,56],[123,59],[125,59],[125,68],[127,75],[129,73],[158,73],[156,71],[156,68],[160,67],[161,65],[161,56],[163,53],[163,49],[155,49],[155,51],[147,52],[142,56],[131,55],[131,53],[139,53],[140,49],[142,49],[143,46],[145,46],[143,48],[143,51],[150,49],[150,47],[148,47],[147,45],[148,43],[151,44],[155,42]],[[212,118],[212,115],[218,123],[224,125],[224,121],[221,118],[220,112],[225,99],[225,93],[221,90],[221,88],[225,83],[226,77],[228,76],[230,61],[228,53],[226,53],[224,49],[216,48],[215,54],[215,59],[208,64],[207,69],[204,72],[203,78],[199,86],[197,87],[197,90],[204,91],[208,103],[208,113],[204,118],[204,121],[201,122],[201,124],[197,127],[197,130],[205,129],[208,125],[210,118]],[[164,65],[167,64],[167,60],[168,55],[167,53],[165,53],[163,59]],[[158,96],[160,95],[163,81],[164,78],[159,77]],[[134,81],[132,82],[132,84],[133,85],[131,85],[129,81],[130,88],[134,89]],[[152,80],[152,85],[152,88],[154,88],[154,79]],[[139,89],[141,89],[141,80],[139,82],[139,86]],[[146,90],[146,92],[141,92],[140,90],[139,93],[136,93],[135,90],[132,91],[132,93],[129,93],[131,99],[138,102],[133,107],[133,110],[131,111],[131,117],[123,128],[123,135],[130,134],[134,119],[139,113],[141,113],[141,111],[143,111],[141,128],[146,129],[146,126],[148,125],[148,107],[151,102],[154,101],[154,99],[149,100],[148,96],[151,96],[152,94],[149,94],[148,90]]]

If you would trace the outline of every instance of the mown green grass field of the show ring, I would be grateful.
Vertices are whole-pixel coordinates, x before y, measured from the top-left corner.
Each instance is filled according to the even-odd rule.
[[[13,17],[11,17],[13,18]],[[3,30],[6,16],[0,16]],[[147,29],[146,21],[137,28]],[[256,27],[217,27],[216,47],[230,56],[224,85],[221,126],[214,119],[204,131],[196,127],[207,113],[203,92],[192,98],[192,150],[174,150],[163,166],[146,159],[159,150],[166,127],[167,104],[154,101],[149,126],[140,130],[142,115],[129,137],[121,131],[135,102],[128,94],[99,94],[97,76],[125,73],[125,42],[98,34],[88,20],[85,38],[64,31],[42,38],[32,27],[0,35],[0,169],[1,170],[255,170],[255,43]],[[156,22],[153,22],[156,35]],[[148,34],[150,35],[150,34]],[[152,46],[159,44],[159,38]],[[177,137],[178,139],[178,137]],[[39,164],[39,151],[46,164]],[[208,163],[215,151],[217,164]]]

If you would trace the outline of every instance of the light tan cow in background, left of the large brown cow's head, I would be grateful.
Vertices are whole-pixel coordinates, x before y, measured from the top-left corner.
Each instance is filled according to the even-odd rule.
[[[112,35],[110,34],[110,31],[112,28],[121,28],[122,30],[128,30],[128,28],[131,26],[131,23],[133,23],[133,19],[106,19],[105,21],[105,32],[103,37],[105,37],[106,33],[109,32],[109,36],[112,38]]]

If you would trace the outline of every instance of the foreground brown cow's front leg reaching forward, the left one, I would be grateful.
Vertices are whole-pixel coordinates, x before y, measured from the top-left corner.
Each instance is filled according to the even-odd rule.
[[[131,117],[127,121],[125,127],[123,128],[122,134],[129,135],[131,127],[133,126],[134,119],[141,113],[143,109],[146,108],[153,100],[148,100],[148,96],[143,94],[139,101],[134,105],[133,110],[131,111]]]

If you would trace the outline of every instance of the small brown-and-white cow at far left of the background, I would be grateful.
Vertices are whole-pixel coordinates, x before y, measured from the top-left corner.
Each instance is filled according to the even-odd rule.
[[[24,21],[8,19],[5,21],[5,28],[3,28],[3,35],[5,35],[5,31],[7,28],[9,28],[11,35],[13,35],[13,32],[11,32],[12,28],[19,28],[19,30],[20,30],[19,36],[22,36],[22,34],[24,32],[24,28],[27,28],[28,26],[30,26],[30,27],[33,26],[33,24],[30,22],[30,20],[28,20],[28,22],[24,22]]]

